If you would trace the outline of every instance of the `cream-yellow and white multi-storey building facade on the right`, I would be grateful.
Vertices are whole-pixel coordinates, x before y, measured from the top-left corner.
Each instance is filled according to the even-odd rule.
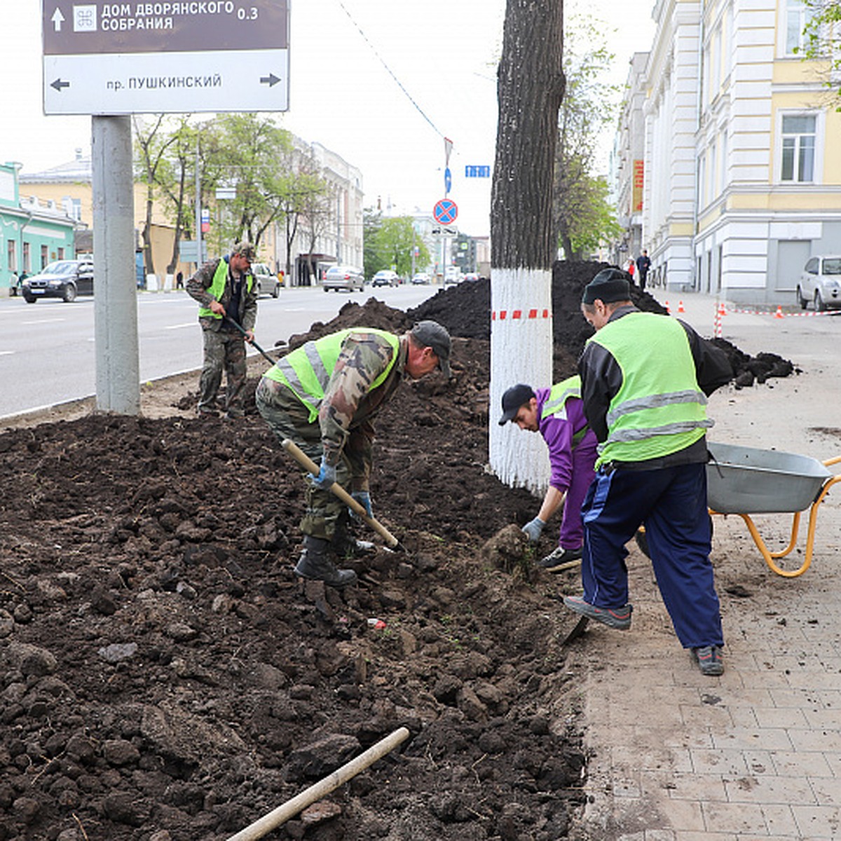
[[[801,0],[654,6],[629,80],[644,92],[649,283],[793,304],[807,258],[841,251],[841,114],[828,62],[799,53],[806,15]]]

